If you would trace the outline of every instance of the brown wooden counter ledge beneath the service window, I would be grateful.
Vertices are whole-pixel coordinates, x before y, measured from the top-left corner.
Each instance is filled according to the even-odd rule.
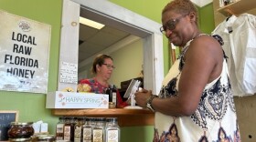
[[[52,109],[52,115],[65,117],[117,117],[120,127],[153,126],[155,113],[148,109]]]

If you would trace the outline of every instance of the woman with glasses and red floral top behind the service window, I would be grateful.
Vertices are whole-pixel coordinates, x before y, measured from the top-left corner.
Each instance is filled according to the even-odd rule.
[[[81,79],[78,84],[78,92],[93,92],[96,94],[105,94],[106,89],[110,87],[108,80],[112,76],[113,66],[112,56],[98,55],[94,58],[91,73],[94,75],[92,78]],[[128,106],[123,102],[119,91],[117,90],[117,106]]]

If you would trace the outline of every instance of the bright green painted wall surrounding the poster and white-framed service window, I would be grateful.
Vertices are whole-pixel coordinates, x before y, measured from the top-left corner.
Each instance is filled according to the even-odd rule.
[[[161,23],[161,11],[169,0],[111,0],[117,5],[144,15]],[[49,53],[48,91],[57,90],[59,66],[59,39],[61,25],[62,0],[0,0],[0,9],[11,14],[24,16],[51,25],[51,43]],[[203,31],[210,33],[214,28],[212,4],[200,8],[200,25]],[[204,22],[203,22],[204,21]],[[205,23],[207,21],[208,23]],[[1,19],[2,22],[2,19]],[[169,69],[169,49],[164,37],[165,74]],[[19,121],[27,122],[43,120],[48,123],[50,134],[55,133],[58,117],[51,115],[46,109],[44,94],[0,91],[0,109],[18,110]],[[153,127],[122,127],[122,142],[147,142],[152,140]]]

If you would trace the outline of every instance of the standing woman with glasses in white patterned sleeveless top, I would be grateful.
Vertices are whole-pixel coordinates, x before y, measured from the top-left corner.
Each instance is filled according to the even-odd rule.
[[[155,111],[155,142],[219,142],[219,131],[229,141],[237,137],[223,42],[219,35],[201,34],[197,16],[189,0],[173,0],[162,11],[160,30],[182,52],[157,96],[146,89],[135,93],[139,106]],[[172,127],[176,138],[170,138]]]

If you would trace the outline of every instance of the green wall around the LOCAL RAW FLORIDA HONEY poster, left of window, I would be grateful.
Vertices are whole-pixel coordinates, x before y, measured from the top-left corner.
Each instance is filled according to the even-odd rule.
[[[1,10],[51,25],[48,91],[57,88],[61,8],[62,0],[0,0]],[[48,123],[50,133],[55,130],[58,117],[51,116],[46,109],[44,94],[0,91],[0,97],[0,109],[18,110],[20,122],[43,120]]]

